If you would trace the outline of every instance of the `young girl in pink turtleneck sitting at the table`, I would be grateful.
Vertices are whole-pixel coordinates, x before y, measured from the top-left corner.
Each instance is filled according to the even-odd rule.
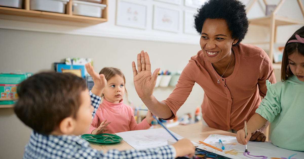
[[[123,95],[127,91],[125,88],[126,79],[118,68],[105,67],[99,72],[104,74],[107,85],[102,92],[102,103],[96,111],[96,115],[87,131],[87,134],[113,134],[123,131],[143,130],[150,128],[153,120],[152,113],[148,111],[146,118],[139,124],[134,118],[133,109],[123,104]],[[109,121],[106,123],[106,121]],[[111,123],[111,124],[110,124]],[[109,124],[109,125],[108,125]],[[102,131],[103,127],[107,127]]]

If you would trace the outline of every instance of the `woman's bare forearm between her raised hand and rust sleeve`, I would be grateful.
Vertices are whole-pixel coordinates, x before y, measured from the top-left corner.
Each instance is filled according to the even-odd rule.
[[[148,98],[141,98],[143,103],[155,116],[163,119],[168,119],[173,116],[173,112],[164,102],[158,101],[154,95],[151,95]]]

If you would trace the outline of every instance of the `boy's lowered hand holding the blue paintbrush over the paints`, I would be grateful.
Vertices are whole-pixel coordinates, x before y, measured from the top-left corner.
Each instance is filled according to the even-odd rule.
[[[193,157],[195,153],[194,145],[187,139],[181,139],[175,144],[172,144],[172,146],[175,148],[176,157],[183,157],[186,155],[188,155],[188,157]]]

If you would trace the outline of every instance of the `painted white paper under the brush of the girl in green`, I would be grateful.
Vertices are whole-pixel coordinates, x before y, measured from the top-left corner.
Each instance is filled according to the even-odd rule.
[[[222,140],[225,147],[223,152],[203,144],[199,145],[198,148],[233,159],[304,159],[304,152],[283,149],[273,145],[271,142],[249,141],[247,153],[244,152],[245,146],[239,144],[237,138],[233,136],[212,134],[203,142],[220,148],[219,139]]]

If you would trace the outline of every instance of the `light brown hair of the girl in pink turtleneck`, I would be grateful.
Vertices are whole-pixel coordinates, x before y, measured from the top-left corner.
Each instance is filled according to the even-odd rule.
[[[113,68],[113,67],[104,67],[100,70],[99,74],[103,74],[105,75],[105,79],[107,81],[109,81],[109,79],[111,79],[112,77],[116,76],[116,75],[119,75],[123,78],[123,81],[125,82],[125,92],[126,92],[126,100],[127,100],[127,103],[129,105],[129,101],[128,101],[128,92],[126,90],[126,78],[125,78],[125,75],[123,75],[123,72],[118,69],[118,68]],[[102,94],[101,95],[101,98],[103,98],[104,95]]]

